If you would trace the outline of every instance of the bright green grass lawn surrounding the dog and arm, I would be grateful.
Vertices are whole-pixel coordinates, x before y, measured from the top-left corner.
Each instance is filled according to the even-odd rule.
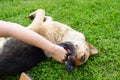
[[[0,19],[27,26],[28,15],[39,8],[83,32],[99,54],[71,73],[53,59],[44,61],[27,72],[34,80],[120,80],[120,0],[1,0]]]

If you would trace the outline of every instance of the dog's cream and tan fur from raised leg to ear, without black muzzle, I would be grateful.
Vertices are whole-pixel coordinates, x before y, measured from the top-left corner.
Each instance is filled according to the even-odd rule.
[[[72,42],[76,48],[74,56],[75,65],[86,62],[90,55],[97,54],[98,51],[91,44],[87,43],[84,35],[71,27],[53,21],[51,17],[45,16],[45,11],[38,9],[31,13],[29,18],[33,20],[29,29],[41,34],[49,41],[59,44],[61,42]]]

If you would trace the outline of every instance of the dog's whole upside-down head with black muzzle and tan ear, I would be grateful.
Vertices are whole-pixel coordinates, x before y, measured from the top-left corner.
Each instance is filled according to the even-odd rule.
[[[65,61],[65,68],[68,72],[72,71],[74,66],[78,66],[86,62],[90,55],[97,53],[97,50],[90,44],[81,43],[81,45],[78,45],[76,43],[64,42],[59,44],[68,52]]]

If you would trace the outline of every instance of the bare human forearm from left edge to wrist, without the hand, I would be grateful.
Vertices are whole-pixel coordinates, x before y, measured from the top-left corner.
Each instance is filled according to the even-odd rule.
[[[14,37],[18,40],[21,40],[25,43],[37,46],[39,48],[42,48],[49,53],[53,53],[53,49],[56,48],[56,45],[52,44],[39,34],[24,28],[21,25],[10,23],[10,22],[2,22],[0,23],[0,26],[3,26],[0,28],[0,34],[1,36],[10,36]]]

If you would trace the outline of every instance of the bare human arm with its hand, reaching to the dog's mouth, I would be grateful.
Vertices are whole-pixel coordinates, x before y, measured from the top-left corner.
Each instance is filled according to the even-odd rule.
[[[20,41],[39,47],[50,53],[59,62],[63,62],[66,57],[67,52],[62,47],[49,42],[44,37],[19,24],[0,21],[0,37],[4,36],[14,37]]]

